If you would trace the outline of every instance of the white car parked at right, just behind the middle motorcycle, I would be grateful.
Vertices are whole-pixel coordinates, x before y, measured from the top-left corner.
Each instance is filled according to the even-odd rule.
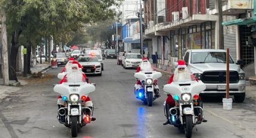
[[[139,53],[126,53],[123,58],[123,68],[137,68],[142,62],[142,55]]]

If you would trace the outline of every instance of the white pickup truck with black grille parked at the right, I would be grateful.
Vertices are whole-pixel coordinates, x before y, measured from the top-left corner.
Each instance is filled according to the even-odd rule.
[[[206,85],[201,95],[226,94],[226,51],[220,49],[187,50],[184,60],[190,71]],[[239,67],[243,61],[233,61],[229,55],[229,95],[237,103],[245,100],[245,72]]]

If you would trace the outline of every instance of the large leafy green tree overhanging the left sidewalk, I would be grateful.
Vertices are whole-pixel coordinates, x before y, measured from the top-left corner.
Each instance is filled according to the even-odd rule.
[[[113,17],[111,8],[116,0],[0,0],[7,14],[7,32],[10,40],[10,67],[16,70],[20,35],[27,45],[40,43],[41,37],[53,36],[56,41],[70,38],[87,23]],[[13,79],[14,74],[10,74]]]

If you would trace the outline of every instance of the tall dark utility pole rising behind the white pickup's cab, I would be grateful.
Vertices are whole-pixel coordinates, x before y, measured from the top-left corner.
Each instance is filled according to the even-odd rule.
[[[222,26],[222,0],[218,0],[218,13],[219,13],[219,49],[224,49],[224,37],[223,37],[223,26]]]

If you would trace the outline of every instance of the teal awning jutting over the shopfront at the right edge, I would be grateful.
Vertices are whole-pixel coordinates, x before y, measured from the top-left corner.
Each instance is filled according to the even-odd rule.
[[[222,22],[222,25],[250,25],[252,23],[256,24],[256,17],[251,17],[247,19],[235,19]]]

